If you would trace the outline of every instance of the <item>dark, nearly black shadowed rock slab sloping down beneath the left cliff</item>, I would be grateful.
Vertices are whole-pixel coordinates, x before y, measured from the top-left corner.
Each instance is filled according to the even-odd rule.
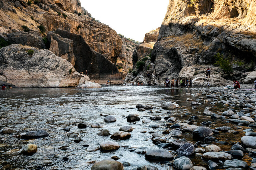
[[[91,79],[122,79],[118,68],[104,55],[94,51],[81,35],[73,34],[61,29],[55,31],[62,38],[73,41],[73,54],[76,56],[74,68],[78,72],[86,73]]]

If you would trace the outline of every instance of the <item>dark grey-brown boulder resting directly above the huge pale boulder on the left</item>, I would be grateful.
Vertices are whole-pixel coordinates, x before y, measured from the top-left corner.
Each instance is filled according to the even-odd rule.
[[[8,41],[11,44],[21,44],[40,49],[45,49],[43,38],[40,36],[39,33],[17,31],[7,34],[7,37]]]

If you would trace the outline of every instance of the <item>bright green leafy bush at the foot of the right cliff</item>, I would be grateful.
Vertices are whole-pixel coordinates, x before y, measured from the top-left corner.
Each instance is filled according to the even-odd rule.
[[[217,53],[214,55],[215,65],[219,66],[224,74],[230,74],[233,72],[232,63],[230,57],[224,58],[223,54]]]

